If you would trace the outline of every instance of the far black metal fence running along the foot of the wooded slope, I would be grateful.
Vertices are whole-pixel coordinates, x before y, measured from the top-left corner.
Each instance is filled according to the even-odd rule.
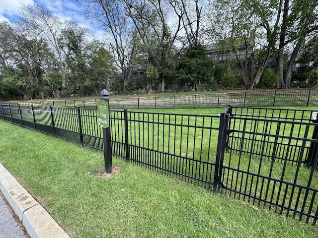
[[[172,97],[111,98],[111,109],[176,109],[176,108],[223,108],[238,107],[310,107],[318,106],[318,89],[285,89],[249,91],[242,93],[210,93]],[[20,103],[20,105],[30,105]],[[97,109],[97,100],[58,100],[34,102],[33,105],[53,107],[80,107]]]

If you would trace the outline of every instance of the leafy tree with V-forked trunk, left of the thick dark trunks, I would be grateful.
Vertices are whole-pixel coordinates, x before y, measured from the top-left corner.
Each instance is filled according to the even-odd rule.
[[[244,0],[216,0],[214,2],[215,26],[212,28],[219,46],[223,52],[234,54],[246,87],[257,86],[261,75],[269,62],[274,45],[266,42],[267,37],[260,32],[260,23],[255,17],[252,4]],[[265,39],[265,41],[264,41]],[[259,50],[255,50],[258,47]],[[263,53],[262,58],[257,53]]]

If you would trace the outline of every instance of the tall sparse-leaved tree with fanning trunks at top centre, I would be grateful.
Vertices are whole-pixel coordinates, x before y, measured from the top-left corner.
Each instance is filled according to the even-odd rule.
[[[156,67],[160,90],[164,92],[166,82],[171,83],[175,77],[178,56],[187,47],[199,44],[202,4],[198,0],[125,0],[125,3],[137,39],[142,42],[139,45],[142,60]]]

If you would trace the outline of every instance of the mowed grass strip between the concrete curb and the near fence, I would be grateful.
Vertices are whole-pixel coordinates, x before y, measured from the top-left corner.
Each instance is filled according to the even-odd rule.
[[[315,237],[317,228],[0,121],[0,162],[72,238]]]

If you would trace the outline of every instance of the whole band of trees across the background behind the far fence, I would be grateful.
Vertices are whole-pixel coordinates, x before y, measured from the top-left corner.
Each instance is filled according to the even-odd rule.
[[[0,99],[317,84],[318,0],[78,2],[102,40],[37,3],[0,22]]]

